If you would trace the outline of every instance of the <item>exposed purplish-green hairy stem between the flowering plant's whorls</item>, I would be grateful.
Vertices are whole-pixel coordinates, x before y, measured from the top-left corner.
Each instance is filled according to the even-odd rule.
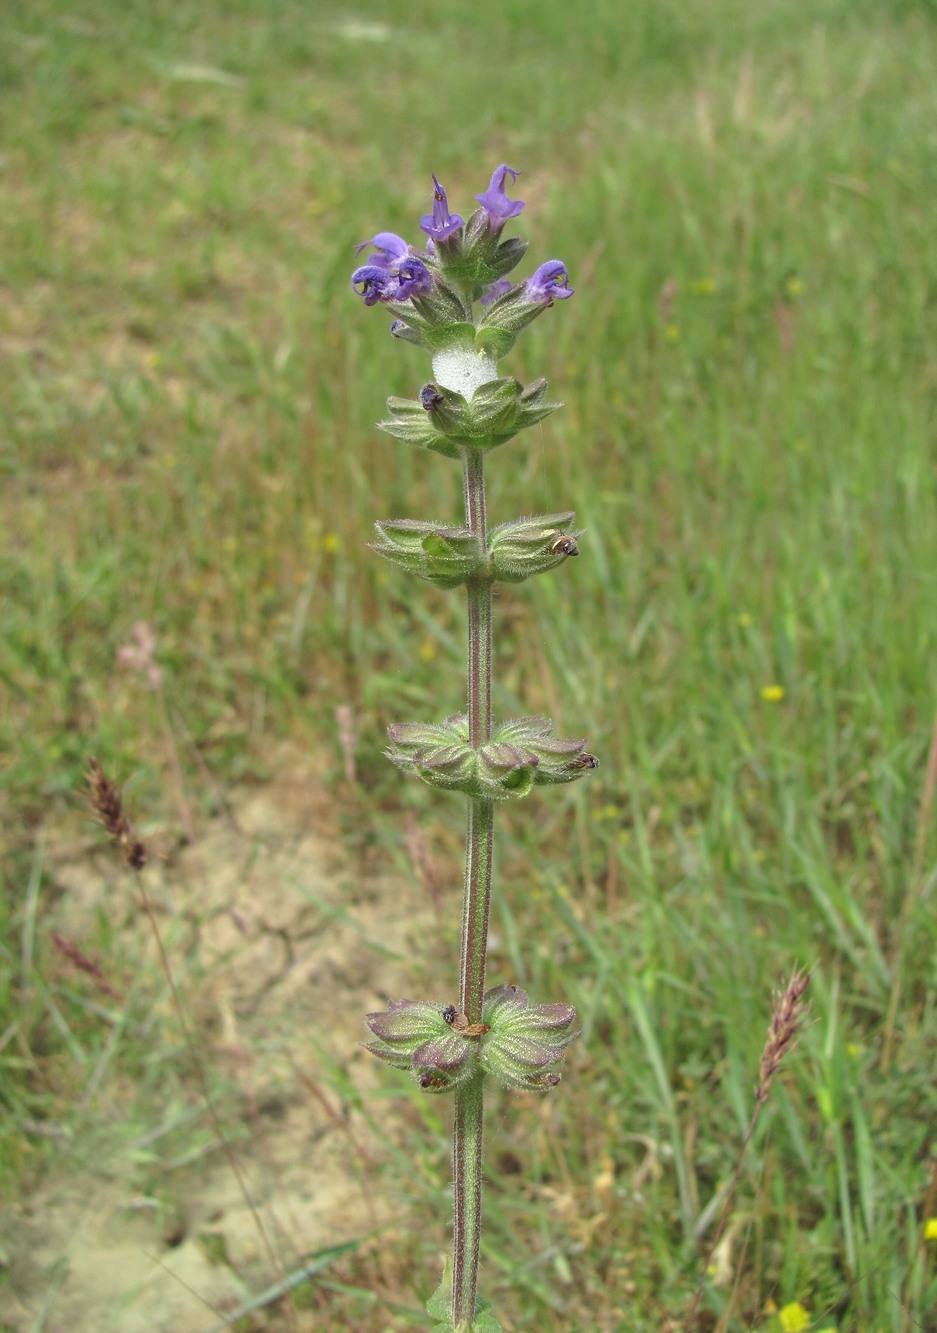
[[[465,451],[465,524],[486,541],[485,473],[480,451]],[[492,734],[492,584],[468,584],[468,714],[476,748]],[[472,797],[465,834],[465,886],[459,1008],[470,1024],[481,1022],[492,890],[494,802]],[[484,1076],[478,1072],[456,1089],[452,1130],[453,1228],[452,1324],[470,1329],[478,1281],[481,1238],[481,1152]]]

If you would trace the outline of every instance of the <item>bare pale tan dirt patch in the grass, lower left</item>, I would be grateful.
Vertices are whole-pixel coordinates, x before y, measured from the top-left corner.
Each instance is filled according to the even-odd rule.
[[[140,1169],[145,1142],[125,1160],[76,1164],[81,1153],[68,1152],[7,1237],[12,1308],[0,1326],[201,1333],[299,1256],[372,1233],[392,1214],[401,1222],[399,1201],[380,1197],[383,1146],[367,1116],[383,1070],[359,1042],[363,1014],[412,989],[401,909],[428,917],[428,906],[417,888],[356,872],[315,772],[295,754],[279,769],[263,790],[235,792],[227,816],[145,876],[199,1041],[235,1084],[225,1121],[280,1272],[193,1096],[204,1149],[156,1186],[153,1170]],[[101,838],[56,857],[51,873],[63,890],[55,929],[77,938],[89,910],[128,893]],[[136,948],[152,954],[143,914],[127,917]],[[161,1030],[173,1028],[177,1037],[167,1013]],[[345,1076],[364,1112],[355,1092],[336,1090]],[[383,1124],[388,1113],[384,1101]]]

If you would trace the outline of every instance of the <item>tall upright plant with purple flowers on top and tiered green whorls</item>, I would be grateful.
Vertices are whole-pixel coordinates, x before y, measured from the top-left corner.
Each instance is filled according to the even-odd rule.
[[[532,1004],[516,985],[485,989],[494,806],[534,786],[572,782],[598,762],[585,741],[554,736],[545,717],[492,721],[494,584],[554,569],[578,553],[581,536],[568,511],[488,527],[486,455],[560,407],[549,400],[545,380],[521,384],[500,373],[498,360],[521,329],[573,295],[560,260],[548,260],[521,283],[506,276],[526,251],[526,241],[502,236],[524,208],[506,193],[516,179],[510,167],[498,167],[464,221],[449,212],[433,176],[432,212],[420,221],[424,248],[379,232],[359,245],[359,255],[373,253],[352,275],[365,305],[380,304],[393,315],[391,333],[432,357],[432,380],[415,399],[389,399],[381,429],[461,463],[465,497],[463,524],[381,520],[372,548],[419,579],[464,587],[468,595],[465,710],[441,722],[391,726],[387,750],[404,772],[468,800],[459,1004],[392,1000],[385,1012],[368,1014],[373,1054],[409,1070],[425,1092],[455,1097],[452,1269],[428,1305],[437,1333],[500,1329],[477,1300],[485,1081],[549,1090],[574,1036],[572,1005]]]

